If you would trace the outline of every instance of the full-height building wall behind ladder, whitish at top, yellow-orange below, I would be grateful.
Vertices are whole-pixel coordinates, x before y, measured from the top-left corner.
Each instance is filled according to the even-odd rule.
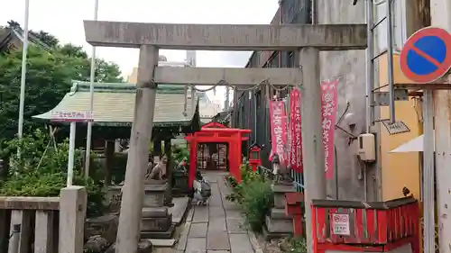
[[[424,1],[398,1],[394,5],[394,47],[401,50],[413,32],[428,25],[428,18],[422,17]],[[382,19],[386,15],[386,5],[379,5],[376,9],[376,19]],[[413,18],[416,17],[416,18]],[[387,49],[386,25],[378,28],[377,50]],[[395,53],[393,58],[393,73],[395,84],[405,84],[411,81],[407,79],[400,70],[399,54]],[[388,85],[388,58],[383,54],[378,60],[379,86]],[[386,89],[382,89],[386,91]],[[400,145],[415,139],[422,134],[422,109],[419,97],[410,97],[409,101],[398,101],[395,103],[396,120],[402,121],[410,128],[409,132],[390,135],[382,123],[381,130],[381,164],[382,164],[382,200],[390,200],[402,197],[402,187],[407,186],[410,192],[420,198],[421,195],[421,160],[418,152],[390,153]],[[388,107],[380,107],[380,120],[389,119]]]

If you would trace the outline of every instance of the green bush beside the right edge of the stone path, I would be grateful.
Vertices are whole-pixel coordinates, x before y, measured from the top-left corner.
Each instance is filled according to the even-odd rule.
[[[235,178],[227,178],[234,190],[232,194],[226,196],[226,199],[240,204],[246,224],[251,230],[261,232],[265,216],[270,211],[274,199],[271,181],[254,173],[245,163],[241,166],[241,178],[239,184]]]

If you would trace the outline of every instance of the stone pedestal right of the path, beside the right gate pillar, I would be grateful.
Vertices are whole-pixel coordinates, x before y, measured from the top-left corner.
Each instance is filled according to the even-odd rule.
[[[290,236],[293,233],[293,220],[285,213],[285,194],[296,192],[296,188],[292,184],[278,183],[272,184],[272,192],[274,206],[266,215],[264,236],[266,239]]]

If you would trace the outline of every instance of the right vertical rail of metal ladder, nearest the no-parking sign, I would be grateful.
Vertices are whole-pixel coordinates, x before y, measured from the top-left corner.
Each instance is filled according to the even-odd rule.
[[[387,47],[388,47],[388,64],[389,64],[389,98],[390,98],[390,122],[396,121],[395,104],[394,104],[394,74],[393,74],[393,10],[392,0],[387,1]]]

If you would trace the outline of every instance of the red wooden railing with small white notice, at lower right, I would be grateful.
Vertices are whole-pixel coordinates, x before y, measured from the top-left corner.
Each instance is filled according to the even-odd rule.
[[[419,252],[419,203],[414,198],[373,203],[314,200],[312,211],[312,229],[319,248],[396,248],[409,241],[413,252]]]

